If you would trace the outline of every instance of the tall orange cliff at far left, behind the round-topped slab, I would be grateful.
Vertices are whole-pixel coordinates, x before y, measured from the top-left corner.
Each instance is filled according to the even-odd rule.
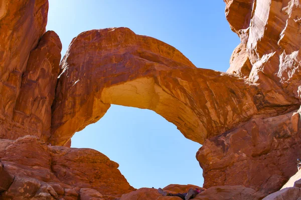
[[[0,0],[0,5],[0,138],[16,139],[39,131],[13,118],[30,52],[45,32],[48,0]]]

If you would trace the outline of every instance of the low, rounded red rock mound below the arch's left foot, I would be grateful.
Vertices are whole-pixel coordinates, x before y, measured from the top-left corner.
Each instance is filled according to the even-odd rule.
[[[0,199],[112,199],[101,194],[116,198],[133,190],[118,164],[93,149],[49,146],[25,136],[0,139],[0,157],[6,171],[15,176]]]

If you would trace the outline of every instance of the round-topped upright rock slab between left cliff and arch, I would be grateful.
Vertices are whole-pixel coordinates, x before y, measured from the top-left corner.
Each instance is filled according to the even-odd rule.
[[[14,109],[13,120],[35,129],[35,135],[43,140],[50,136],[51,105],[60,70],[61,50],[59,36],[54,31],[47,31],[29,56]]]

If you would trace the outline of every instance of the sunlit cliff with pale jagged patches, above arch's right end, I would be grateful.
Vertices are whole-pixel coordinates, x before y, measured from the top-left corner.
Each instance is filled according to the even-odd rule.
[[[280,96],[286,93],[291,101],[300,104],[300,3],[295,0],[224,1],[227,20],[239,35],[240,46],[246,48],[246,53],[233,51],[232,58],[236,60],[228,72],[247,75],[249,60],[251,71],[247,76],[251,82],[269,90],[266,96],[269,101],[281,104],[284,99]],[[281,89],[284,93],[279,95]]]

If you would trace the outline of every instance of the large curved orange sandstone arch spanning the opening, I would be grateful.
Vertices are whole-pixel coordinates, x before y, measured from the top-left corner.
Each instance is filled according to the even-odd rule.
[[[197,68],[173,46],[122,27],[72,40],[61,62],[51,142],[64,145],[110,104],[154,110],[203,143],[272,103],[245,79]]]

